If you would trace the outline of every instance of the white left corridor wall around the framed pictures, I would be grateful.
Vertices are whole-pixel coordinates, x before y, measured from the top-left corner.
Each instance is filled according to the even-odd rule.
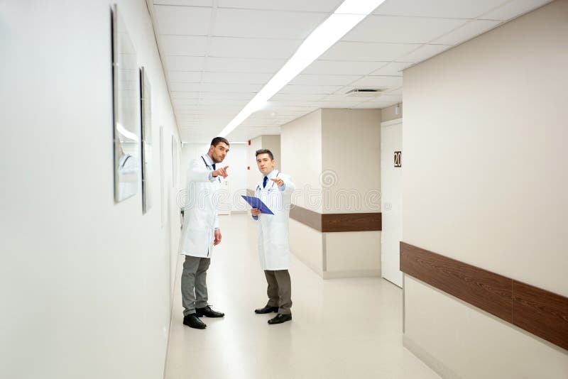
[[[159,127],[166,158],[178,131],[146,4],[116,3],[152,86],[145,215],[141,188],[114,204],[111,3],[0,6],[1,378],[163,375],[179,225],[161,227]]]

